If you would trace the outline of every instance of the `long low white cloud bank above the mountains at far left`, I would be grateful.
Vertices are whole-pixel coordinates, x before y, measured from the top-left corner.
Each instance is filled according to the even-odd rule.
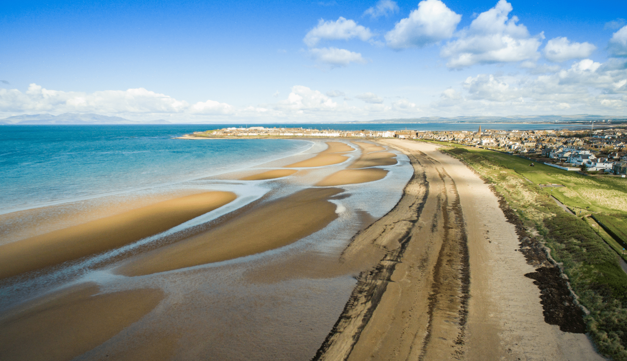
[[[100,114],[231,114],[233,107],[207,100],[189,105],[144,88],[103,90],[93,93],[49,90],[30,84],[26,92],[0,89],[1,112],[89,112]]]

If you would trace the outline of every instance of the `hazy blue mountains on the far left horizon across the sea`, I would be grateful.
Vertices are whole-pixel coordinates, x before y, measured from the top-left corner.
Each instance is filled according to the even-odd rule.
[[[65,113],[58,116],[52,114],[23,114],[0,120],[0,124],[172,124],[164,119],[156,121],[129,121],[120,117],[100,116],[98,114]]]

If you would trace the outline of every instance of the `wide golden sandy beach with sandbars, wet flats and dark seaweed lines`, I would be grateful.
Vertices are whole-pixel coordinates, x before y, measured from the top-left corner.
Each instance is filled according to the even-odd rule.
[[[2,359],[603,359],[586,335],[545,323],[514,224],[460,161],[415,141],[321,141],[219,178],[267,182],[264,197],[5,311]],[[413,176],[398,203],[372,217],[369,192],[401,166]],[[127,245],[236,198],[197,193],[27,237],[0,246],[0,269]]]

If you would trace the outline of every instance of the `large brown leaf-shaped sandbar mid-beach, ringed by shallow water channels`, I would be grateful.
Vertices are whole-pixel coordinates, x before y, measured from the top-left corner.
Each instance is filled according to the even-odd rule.
[[[250,256],[292,244],[337,218],[341,188],[307,188],[247,210],[207,232],[133,257],[113,270],[140,276]]]

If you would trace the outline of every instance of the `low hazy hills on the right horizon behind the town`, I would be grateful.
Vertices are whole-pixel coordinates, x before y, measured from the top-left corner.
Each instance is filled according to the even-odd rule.
[[[576,114],[572,116],[461,116],[461,117],[420,117],[410,119],[377,119],[364,122],[345,123],[436,123],[436,122],[467,122],[467,123],[490,123],[490,122],[577,122],[577,121],[623,121],[627,116],[598,116],[594,114]]]

